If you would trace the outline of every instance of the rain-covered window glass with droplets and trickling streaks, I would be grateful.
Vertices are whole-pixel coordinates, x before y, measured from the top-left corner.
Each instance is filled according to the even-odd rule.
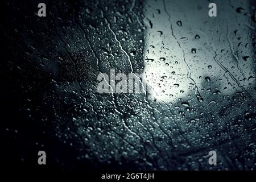
[[[7,160],[45,150],[58,169],[255,170],[255,3],[215,3],[217,17],[203,0],[46,1],[39,18],[37,2],[6,2]],[[110,69],[150,90],[98,93]]]

